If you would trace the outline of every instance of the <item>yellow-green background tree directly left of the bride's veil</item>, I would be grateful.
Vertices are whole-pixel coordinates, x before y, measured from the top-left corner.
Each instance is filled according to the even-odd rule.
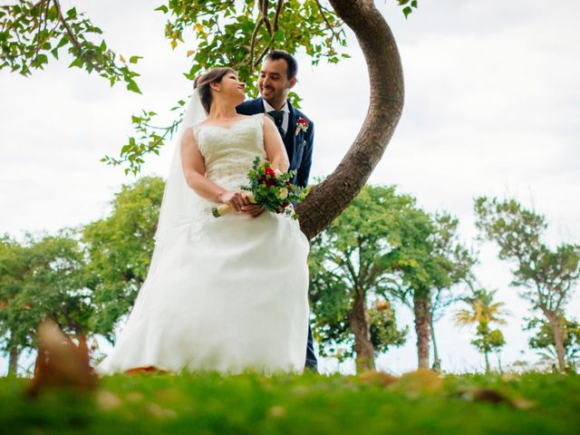
[[[159,177],[123,185],[111,201],[111,214],[83,228],[88,285],[96,308],[92,331],[111,342],[115,324],[131,310],[147,276],[163,187]]]

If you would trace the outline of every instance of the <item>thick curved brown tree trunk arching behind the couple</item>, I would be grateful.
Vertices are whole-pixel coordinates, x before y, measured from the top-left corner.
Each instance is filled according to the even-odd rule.
[[[371,82],[371,102],[362,129],[341,163],[296,208],[300,227],[308,238],[327,227],[361,191],[391,140],[404,100],[397,43],[374,2],[330,3],[361,45]]]

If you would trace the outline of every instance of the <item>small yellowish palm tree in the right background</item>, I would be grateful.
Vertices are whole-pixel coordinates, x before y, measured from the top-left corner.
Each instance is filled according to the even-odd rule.
[[[507,311],[502,309],[505,304],[493,300],[496,292],[496,290],[488,291],[484,288],[473,290],[472,295],[461,299],[469,307],[455,313],[455,324],[459,326],[478,325],[476,333],[478,338],[471,343],[478,348],[479,352],[484,354],[486,372],[489,372],[488,353],[499,350],[506,343],[501,331],[489,329],[490,324],[507,324],[502,318],[508,315]]]

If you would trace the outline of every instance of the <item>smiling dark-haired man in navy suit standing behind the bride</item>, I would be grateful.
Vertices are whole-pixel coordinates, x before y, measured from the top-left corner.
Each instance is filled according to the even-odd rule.
[[[237,112],[243,115],[266,113],[272,118],[284,140],[290,170],[297,170],[292,182],[306,187],[312,164],[314,123],[287,100],[288,92],[296,84],[296,73],[298,63],[292,54],[282,50],[271,51],[266,55],[257,80],[261,97],[243,102],[237,106]],[[305,365],[317,371],[318,361],[313,343],[312,329],[308,324]]]

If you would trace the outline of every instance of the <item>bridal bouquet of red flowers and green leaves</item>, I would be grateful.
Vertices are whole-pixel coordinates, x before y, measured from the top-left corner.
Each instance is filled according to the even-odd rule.
[[[252,204],[259,204],[268,211],[298,218],[294,208],[290,207],[292,202],[301,201],[306,196],[306,189],[295,186],[290,182],[296,171],[291,170],[282,173],[278,169],[272,169],[269,161],[262,161],[256,157],[252,169],[247,174],[249,186],[242,186],[242,190],[249,193],[248,199]],[[231,206],[223,206],[211,209],[214,218],[227,215],[234,210]]]

